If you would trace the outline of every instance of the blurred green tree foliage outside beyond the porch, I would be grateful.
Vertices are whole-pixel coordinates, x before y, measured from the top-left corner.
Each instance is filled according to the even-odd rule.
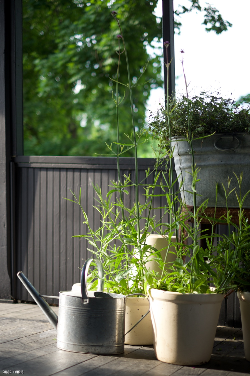
[[[204,23],[217,33],[231,24],[215,8],[202,9],[189,0],[180,15],[204,11]],[[150,89],[162,86],[161,19],[153,14],[157,0],[23,0],[23,103],[25,155],[85,155],[105,153],[105,142],[116,139],[116,108],[111,97],[118,55],[118,12],[135,82],[149,61],[141,82],[133,89],[135,121],[143,126]],[[212,10],[211,10],[212,9]],[[218,27],[219,25],[219,27]],[[175,26],[180,30],[181,23]],[[208,30],[208,31],[209,31]],[[146,45],[153,53],[149,55]],[[158,44],[159,46],[159,44]],[[119,80],[127,83],[125,56]],[[124,86],[120,95],[123,96]],[[120,140],[131,132],[129,93],[119,107]],[[121,141],[122,142],[122,141]],[[150,145],[139,148],[147,156]],[[132,150],[124,156],[131,156]]]

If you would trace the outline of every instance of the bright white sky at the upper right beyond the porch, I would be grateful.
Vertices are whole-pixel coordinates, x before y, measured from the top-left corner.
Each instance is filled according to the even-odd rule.
[[[181,34],[175,34],[175,76],[176,90],[185,90],[180,50],[184,50],[184,70],[190,82],[190,95],[200,91],[217,92],[222,97],[237,100],[250,93],[249,74],[249,16],[250,0],[206,0],[220,11],[224,20],[232,27],[222,34],[206,32],[201,25],[204,17],[201,12],[192,11],[181,16]],[[204,0],[200,1],[205,6]],[[174,0],[178,4],[190,6],[188,0]],[[158,2],[156,15],[162,15],[162,0]],[[186,92],[186,90],[185,90]],[[232,93],[232,94],[231,94]],[[159,100],[164,102],[162,88],[151,91],[148,106],[155,111]]]

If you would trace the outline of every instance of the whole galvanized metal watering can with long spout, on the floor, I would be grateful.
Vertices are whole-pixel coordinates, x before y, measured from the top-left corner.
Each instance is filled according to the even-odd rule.
[[[92,261],[98,269],[97,291],[87,291],[87,274]],[[40,295],[22,271],[17,276],[57,330],[57,347],[61,350],[102,355],[123,353],[125,335],[150,312],[149,308],[124,334],[127,296],[145,294],[125,296],[103,292],[104,273],[99,259],[89,258],[85,261],[81,273],[81,291],[60,291],[59,297]],[[58,317],[44,297],[59,299]]]

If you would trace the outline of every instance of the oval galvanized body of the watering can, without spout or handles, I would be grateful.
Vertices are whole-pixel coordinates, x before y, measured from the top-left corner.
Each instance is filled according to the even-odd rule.
[[[77,293],[79,297],[75,296]],[[83,305],[81,291],[60,292],[59,349],[102,355],[124,352],[126,297],[109,295],[114,297],[97,298],[88,291],[88,304]]]

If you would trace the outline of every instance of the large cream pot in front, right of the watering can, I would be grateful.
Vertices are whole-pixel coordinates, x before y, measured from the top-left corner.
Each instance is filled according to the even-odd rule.
[[[156,358],[198,365],[211,358],[223,294],[181,294],[151,289]]]

